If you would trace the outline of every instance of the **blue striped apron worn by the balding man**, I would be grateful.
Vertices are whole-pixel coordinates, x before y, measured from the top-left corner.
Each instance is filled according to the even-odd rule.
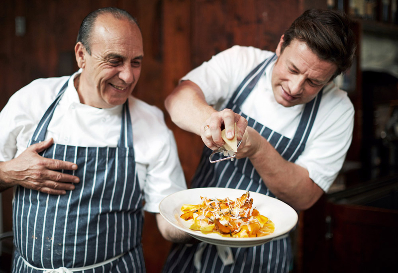
[[[67,85],[47,109],[28,146],[45,139]],[[64,172],[78,176],[80,183],[62,196],[16,188],[12,272],[43,272],[32,267],[88,267],[117,256],[120,258],[110,263],[80,272],[145,272],[141,247],[143,198],[134,161],[128,101],[123,105],[117,147],[53,144],[41,155],[76,163],[76,171]]]

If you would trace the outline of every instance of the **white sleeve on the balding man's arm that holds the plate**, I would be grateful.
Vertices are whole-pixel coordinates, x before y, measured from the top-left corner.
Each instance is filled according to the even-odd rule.
[[[144,209],[159,212],[159,203],[165,197],[187,189],[177,144],[159,108],[133,98],[130,113]]]

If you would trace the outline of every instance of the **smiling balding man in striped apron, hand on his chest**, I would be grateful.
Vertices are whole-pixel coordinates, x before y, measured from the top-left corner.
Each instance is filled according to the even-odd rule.
[[[188,235],[158,213],[186,184],[163,113],[132,96],[141,31],[125,10],[96,10],[75,55],[79,71],[34,80],[0,112],[0,190],[15,189],[12,272],[145,272],[143,209],[167,240]]]

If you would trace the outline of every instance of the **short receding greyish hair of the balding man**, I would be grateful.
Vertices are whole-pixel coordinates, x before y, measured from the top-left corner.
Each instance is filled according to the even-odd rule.
[[[80,25],[77,42],[81,42],[86,48],[87,52],[91,55],[90,38],[94,28],[97,17],[101,14],[112,14],[116,19],[127,19],[137,26],[137,20],[126,10],[117,7],[102,7],[89,13]]]

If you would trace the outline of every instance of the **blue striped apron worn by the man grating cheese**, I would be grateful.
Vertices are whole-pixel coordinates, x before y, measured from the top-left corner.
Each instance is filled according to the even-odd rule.
[[[240,110],[249,93],[253,90],[260,77],[265,76],[267,66],[276,60],[274,54],[254,68],[235,90],[226,108],[239,113],[248,121],[248,126],[254,128],[265,137],[269,143],[288,161],[295,162],[304,150],[305,142],[311,131],[319,107],[322,91],[310,102],[305,104],[295,136],[290,139],[248,117]],[[249,158],[225,160],[215,164],[208,158],[212,150],[204,147],[198,169],[192,181],[192,188],[223,187],[243,189],[275,197],[264,184]],[[214,157],[213,160],[217,158]],[[197,272],[194,257],[197,251],[203,251],[200,256],[200,272],[206,273],[252,273],[252,272],[289,272],[292,266],[292,246],[289,237],[271,241],[261,246],[250,248],[231,248],[234,262],[223,265],[214,245],[205,244],[183,245],[173,244],[164,266],[164,273]]]

